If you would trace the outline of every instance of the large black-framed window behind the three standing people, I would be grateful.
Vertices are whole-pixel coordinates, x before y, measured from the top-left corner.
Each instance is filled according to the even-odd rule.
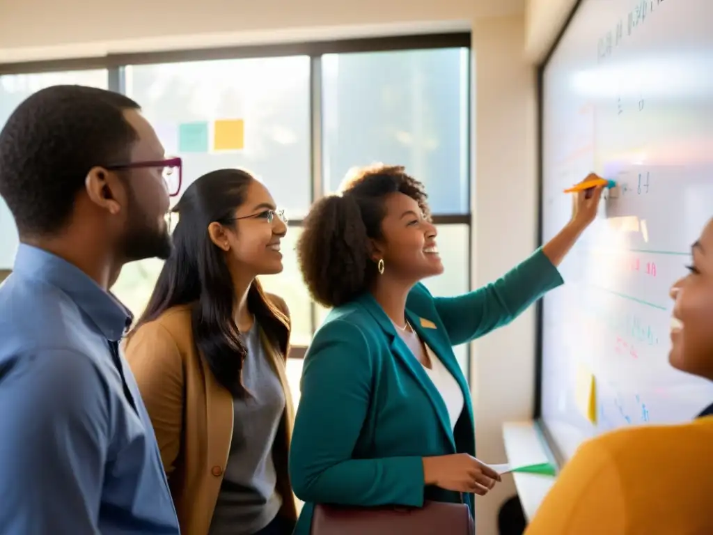
[[[299,348],[293,357],[299,356],[329,312],[310,299],[299,272],[294,248],[302,219],[313,196],[337,190],[354,165],[404,165],[424,182],[446,267],[445,274],[424,283],[434,295],[468,290],[469,36],[422,39],[438,43],[419,49],[424,41],[411,37],[379,39],[379,46],[394,41],[396,50],[373,51],[376,41],[364,41],[363,48],[350,41],[344,45],[349,51],[330,44],[329,54],[320,53],[320,44],[305,44],[295,45],[289,56],[280,56],[277,47],[268,57],[234,59],[225,58],[225,51],[206,51],[201,61],[193,60],[202,52],[193,51],[191,61],[179,62],[173,53],[156,53],[142,58],[143,64],[111,70],[4,75],[0,125],[40,88],[58,83],[111,88],[140,104],[167,156],[183,158],[183,191],[220,168],[256,173],[289,216],[284,270],[260,281],[287,302],[292,346]],[[404,46],[409,48],[398,50]],[[333,53],[338,50],[344,52]],[[11,226],[0,200],[0,230]],[[0,244],[0,270],[14,260],[17,240],[7,242]],[[112,290],[135,316],[145,309],[162,267],[155,259],[123,267]],[[467,345],[455,352],[467,372]],[[287,374],[296,402],[301,373],[302,360],[290,358]]]

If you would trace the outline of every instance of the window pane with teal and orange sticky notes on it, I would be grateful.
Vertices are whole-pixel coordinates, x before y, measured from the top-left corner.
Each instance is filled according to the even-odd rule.
[[[209,171],[242,167],[289,217],[307,213],[309,57],[128,66],[125,79],[166,152],[183,158],[184,189]]]

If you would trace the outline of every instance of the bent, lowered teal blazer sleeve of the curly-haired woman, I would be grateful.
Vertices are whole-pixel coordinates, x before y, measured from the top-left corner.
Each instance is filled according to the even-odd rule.
[[[372,393],[372,357],[359,327],[343,320],[324,325],[309,347],[289,456],[294,493],[303,501],[423,504],[421,457],[352,457]]]

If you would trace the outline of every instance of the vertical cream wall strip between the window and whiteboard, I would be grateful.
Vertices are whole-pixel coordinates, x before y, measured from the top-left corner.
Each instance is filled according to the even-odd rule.
[[[535,248],[535,69],[523,57],[524,29],[521,16],[473,26],[475,287],[500,277]],[[503,421],[532,417],[534,335],[534,314],[528,310],[473,345],[476,444],[486,462],[506,462]],[[497,533],[497,508],[515,494],[511,477],[503,481],[476,499],[478,535]]]

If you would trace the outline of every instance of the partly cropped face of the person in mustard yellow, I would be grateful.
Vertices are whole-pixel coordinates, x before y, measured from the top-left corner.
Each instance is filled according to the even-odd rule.
[[[713,220],[692,246],[689,274],[674,283],[671,297],[671,365],[713,380]]]

